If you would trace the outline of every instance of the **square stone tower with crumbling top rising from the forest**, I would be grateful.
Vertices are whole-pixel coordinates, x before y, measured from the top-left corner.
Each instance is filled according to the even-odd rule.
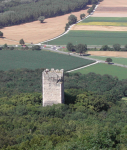
[[[64,103],[64,70],[46,69],[42,73],[43,106]]]

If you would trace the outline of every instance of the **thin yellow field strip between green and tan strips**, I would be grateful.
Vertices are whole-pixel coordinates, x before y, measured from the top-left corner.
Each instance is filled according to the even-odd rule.
[[[84,26],[119,26],[119,27],[127,27],[126,22],[80,22],[77,25]]]

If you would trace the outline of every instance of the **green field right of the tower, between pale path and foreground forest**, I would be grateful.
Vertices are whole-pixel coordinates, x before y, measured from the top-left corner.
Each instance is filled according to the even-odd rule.
[[[117,76],[120,80],[121,79],[127,79],[127,69],[118,67],[118,66],[113,66],[113,65],[108,65],[108,64],[96,64],[90,67],[86,67],[84,69],[76,70],[73,71],[72,73],[75,72],[80,72],[82,74],[88,74],[90,72],[94,72],[96,74],[109,74],[112,75],[113,77]]]

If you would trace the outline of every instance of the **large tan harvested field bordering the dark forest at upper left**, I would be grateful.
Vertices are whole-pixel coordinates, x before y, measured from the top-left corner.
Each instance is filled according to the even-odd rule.
[[[87,9],[78,12],[72,12],[71,14],[74,14],[79,20],[80,14],[82,13],[87,14]],[[12,41],[0,38],[0,45],[5,43],[10,45],[19,44],[19,40],[22,38],[26,43],[33,42],[34,44],[54,38],[65,31],[65,25],[68,22],[69,16],[70,14],[66,14],[63,16],[48,18],[45,19],[44,23],[34,21],[21,25],[5,27],[0,31],[4,33],[4,37],[11,39]]]

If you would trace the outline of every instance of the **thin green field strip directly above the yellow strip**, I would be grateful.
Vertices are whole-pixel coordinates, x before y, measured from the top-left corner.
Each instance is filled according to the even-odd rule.
[[[89,17],[82,22],[127,22],[126,17]]]

